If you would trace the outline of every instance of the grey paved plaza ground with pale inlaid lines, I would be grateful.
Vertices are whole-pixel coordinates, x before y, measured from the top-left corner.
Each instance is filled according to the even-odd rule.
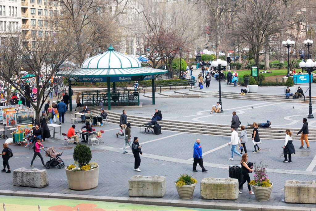
[[[213,86],[218,82],[212,80],[210,90],[216,90]],[[223,85],[225,87],[225,85]],[[225,89],[232,91],[231,87]],[[236,89],[240,89],[237,87]],[[281,88],[260,87],[259,90],[276,89],[280,92]],[[314,89],[315,90],[315,89]],[[283,91],[283,87],[282,87]],[[279,93],[281,94],[281,93]],[[156,95],[158,93],[156,92]],[[247,122],[265,122],[267,119],[272,122],[272,127],[289,127],[300,128],[302,126],[302,118],[308,114],[308,104],[303,103],[286,103],[286,102],[261,102],[261,101],[245,101],[245,100],[231,100],[223,99],[224,113],[210,114],[210,108],[216,103],[218,99],[215,97],[206,98],[157,98],[155,105],[151,104],[151,98],[141,96],[143,102],[142,108],[129,108],[128,115],[137,115],[143,117],[151,117],[155,108],[161,110],[163,119],[177,120],[177,121],[194,121],[194,122],[208,122],[208,123],[222,123],[230,124],[232,111],[236,110],[240,121],[243,124]],[[73,104],[75,105],[75,103]],[[252,109],[251,106],[254,108]],[[295,109],[292,108],[295,107]],[[316,107],[315,107],[316,109]],[[112,108],[111,111],[121,113],[122,108]],[[315,110],[316,112],[316,110]],[[67,112],[66,123],[62,124],[62,133],[66,133],[71,127],[70,114],[74,112]],[[316,114],[316,113],[315,113]],[[309,120],[311,128],[316,127],[313,119]],[[80,129],[82,123],[76,123],[76,129]],[[286,180],[302,180],[309,181],[316,178],[316,149],[315,143],[311,142],[311,149],[298,149],[301,145],[299,141],[294,141],[296,154],[293,155],[293,163],[282,163],[283,157],[283,143],[282,140],[262,140],[262,151],[259,153],[252,153],[253,146],[251,140],[246,143],[248,151],[248,160],[250,162],[262,162],[267,165],[268,175],[274,187],[271,198],[267,202],[259,202],[255,200],[254,195],[248,195],[246,184],[244,185],[243,193],[239,195],[236,201],[221,201],[221,200],[202,200],[200,197],[199,183],[204,177],[228,177],[228,168],[231,164],[239,164],[240,157],[234,156],[234,161],[228,160],[230,158],[230,147],[227,145],[230,142],[230,137],[204,135],[177,131],[162,131],[161,135],[143,134],[140,133],[139,127],[131,125],[131,135],[139,138],[140,145],[143,145],[141,156],[141,172],[134,171],[134,157],[131,149],[128,147],[127,154],[123,154],[123,137],[116,138],[115,133],[118,132],[118,124],[109,123],[103,127],[94,127],[96,130],[105,130],[100,146],[90,146],[92,151],[92,162],[97,162],[100,165],[99,185],[97,188],[86,191],[74,191],[68,188],[67,178],[64,169],[51,168],[47,170],[49,177],[49,186],[43,189],[29,188],[29,187],[15,187],[12,184],[12,174],[2,174],[1,190],[13,191],[31,191],[38,193],[59,193],[59,194],[76,194],[76,195],[91,195],[98,196],[112,196],[112,197],[128,197],[128,179],[134,175],[153,176],[159,175],[166,177],[167,193],[161,200],[179,200],[174,181],[180,174],[189,173],[197,179],[198,185],[195,188],[193,198],[190,200],[180,200],[190,203],[206,203],[206,202],[224,202],[232,205],[231,209],[236,207],[235,204],[253,205],[253,206],[286,206],[286,207],[301,207],[301,208],[316,208],[313,204],[286,204],[284,202],[284,184]],[[76,130],[75,129],[75,130]],[[260,129],[259,129],[260,134]],[[295,134],[293,134],[295,135]],[[284,136],[284,133],[281,134]],[[65,165],[73,162],[72,154],[75,145],[69,144],[62,146],[64,141],[59,140],[60,135],[56,133],[56,141],[52,138],[43,142],[44,146],[55,146],[57,151],[63,151],[62,159]],[[208,172],[202,173],[200,167],[197,167],[198,172],[192,172],[192,155],[193,145],[195,140],[201,140],[203,150],[204,166]],[[4,142],[4,140],[2,140]],[[13,150],[14,156],[10,158],[9,164],[11,171],[17,168],[26,167],[31,168],[30,162],[33,157],[33,150],[22,146],[10,146]],[[42,152],[44,155],[44,152]],[[44,157],[44,162],[48,158]],[[43,169],[40,159],[35,159],[33,165],[35,168]],[[252,174],[250,174],[252,178]],[[141,202],[140,202],[141,203]],[[211,208],[211,207],[210,207]],[[238,208],[238,207],[237,207]],[[292,208],[289,208],[292,209]]]

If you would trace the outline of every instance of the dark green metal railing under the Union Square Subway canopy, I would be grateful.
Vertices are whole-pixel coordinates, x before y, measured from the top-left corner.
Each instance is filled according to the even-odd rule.
[[[139,93],[139,90],[115,90],[110,93],[111,105],[139,105]],[[85,91],[81,96],[82,105],[86,106],[100,106],[100,102],[103,105],[108,102],[107,91]]]

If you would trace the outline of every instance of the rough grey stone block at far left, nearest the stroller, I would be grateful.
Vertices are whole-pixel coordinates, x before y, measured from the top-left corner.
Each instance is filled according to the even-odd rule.
[[[48,186],[47,171],[46,169],[15,169],[13,171],[13,185],[32,188],[44,188]]]

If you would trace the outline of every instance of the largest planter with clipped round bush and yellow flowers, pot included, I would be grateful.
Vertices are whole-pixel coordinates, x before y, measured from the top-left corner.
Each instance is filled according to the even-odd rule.
[[[87,190],[98,186],[99,165],[89,163],[92,155],[88,146],[78,144],[74,149],[74,164],[67,166],[66,176],[70,189]]]

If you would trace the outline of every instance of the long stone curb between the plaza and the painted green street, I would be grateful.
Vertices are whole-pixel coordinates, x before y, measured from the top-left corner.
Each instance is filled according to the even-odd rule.
[[[118,203],[133,203],[155,206],[171,206],[171,207],[187,207],[200,209],[241,209],[243,211],[316,211],[316,208],[304,207],[286,207],[272,205],[254,205],[240,203],[225,203],[225,202],[194,202],[190,200],[171,200],[171,199],[153,199],[153,198],[137,198],[137,197],[114,197],[114,196],[95,196],[95,195],[78,195],[78,194],[62,194],[62,193],[46,193],[32,191],[15,191],[15,190],[0,190],[0,195],[23,196],[23,197],[40,197],[40,198],[56,198],[56,199],[76,199],[88,201],[102,202],[118,202]]]

